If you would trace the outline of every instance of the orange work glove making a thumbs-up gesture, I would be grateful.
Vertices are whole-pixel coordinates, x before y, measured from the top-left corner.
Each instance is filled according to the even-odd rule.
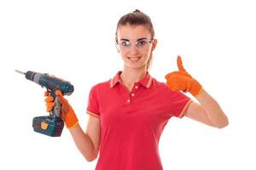
[[[178,71],[166,75],[168,87],[173,91],[182,90],[197,97],[202,91],[202,86],[184,69],[183,61],[179,55],[177,56],[177,68]]]

